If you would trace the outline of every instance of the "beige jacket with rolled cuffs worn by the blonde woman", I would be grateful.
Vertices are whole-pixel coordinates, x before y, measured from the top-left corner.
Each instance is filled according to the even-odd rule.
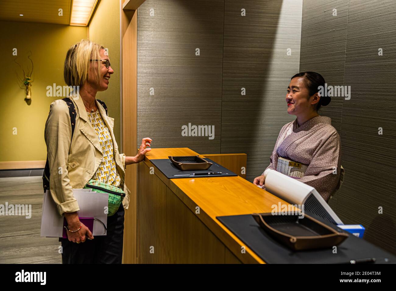
[[[80,210],[72,189],[84,188],[103,158],[102,147],[88,121],[88,113],[81,97],[69,97],[69,99],[74,102],[77,114],[71,145],[69,108],[62,99],[51,103],[44,133],[50,169],[49,189],[60,215]],[[119,187],[126,193],[123,204],[128,209],[129,190],[124,184],[125,154],[118,152],[113,133],[114,118],[107,116],[105,108],[99,101],[96,100],[96,104],[111,133],[116,169],[121,179]]]

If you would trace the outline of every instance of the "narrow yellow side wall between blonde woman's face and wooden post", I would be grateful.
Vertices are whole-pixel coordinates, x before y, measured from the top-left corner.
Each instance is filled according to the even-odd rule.
[[[89,39],[109,49],[109,59],[114,74],[106,91],[98,92],[97,99],[105,101],[109,116],[114,118],[114,135],[120,141],[120,1],[101,0],[88,26]]]

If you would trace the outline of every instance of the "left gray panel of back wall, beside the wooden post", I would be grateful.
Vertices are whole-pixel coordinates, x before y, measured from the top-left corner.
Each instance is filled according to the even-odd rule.
[[[219,153],[224,1],[147,0],[137,17],[138,144]],[[188,123],[215,126],[215,138],[183,137]]]

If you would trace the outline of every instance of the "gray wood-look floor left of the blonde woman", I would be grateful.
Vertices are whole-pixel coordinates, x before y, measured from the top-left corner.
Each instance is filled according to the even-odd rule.
[[[0,263],[61,264],[58,238],[40,237],[42,177],[0,178],[0,204],[31,204],[32,217],[0,215]]]

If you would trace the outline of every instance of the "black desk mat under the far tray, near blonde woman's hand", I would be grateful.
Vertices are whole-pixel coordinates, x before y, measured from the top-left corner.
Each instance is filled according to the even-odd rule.
[[[175,165],[172,164],[171,160],[169,159],[156,159],[150,160],[168,179],[176,179],[176,178],[203,178],[203,177],[230,177],[230,176],[237,176],[235,173],[231,172],[230,170],[226,169],[222,165],[219,165],[213,162],[211,159],[204,158],[208,162],[213,163],[207,170],[199,170],[199,171],[181,171],[177,169]],[[198,175],[195,177],[188,177],[188,176],[178,176],[174,177],[173,175],[186,175],[192,173],[208,173],[208,172],[221,172],[222,174],[218,175]]]

